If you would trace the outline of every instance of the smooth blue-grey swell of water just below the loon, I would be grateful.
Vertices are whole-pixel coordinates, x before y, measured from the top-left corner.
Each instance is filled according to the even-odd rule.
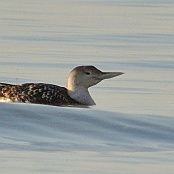
[[[174,150],[174,118],[0,103],[0,148],[37,151]]]

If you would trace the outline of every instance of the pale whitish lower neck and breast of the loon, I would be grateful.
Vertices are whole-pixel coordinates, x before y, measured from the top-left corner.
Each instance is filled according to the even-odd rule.
[[[69,96],[74,100],[88,106],[96,105],[88,89],[82,86],[67,86],[67,89]]]

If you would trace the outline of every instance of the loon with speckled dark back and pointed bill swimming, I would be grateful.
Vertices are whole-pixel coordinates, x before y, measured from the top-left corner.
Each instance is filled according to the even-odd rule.
[[[96,105],[88,88],[104,79],[124,74],[102,72],[94,66],[78,66],[67,79],[65,87],[45,83],[24,83],[12,85],[0,83],[0,100],[35,103],[54,106]]]

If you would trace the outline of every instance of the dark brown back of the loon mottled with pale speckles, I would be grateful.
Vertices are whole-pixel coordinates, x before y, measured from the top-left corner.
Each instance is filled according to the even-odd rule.
[[[22,85],[0,83],[0,99],[56,106],[79,104],[68,95],[66,88],[44,83]]]

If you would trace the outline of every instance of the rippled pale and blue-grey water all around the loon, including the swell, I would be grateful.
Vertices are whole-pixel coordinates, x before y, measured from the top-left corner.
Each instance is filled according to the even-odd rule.
[[[0,170],[146,173],[148,167],[152,173],[172,173],[173,18],[170,0],[0,2],[1,82],[65,86],[72,68],[89,64],[125,72],[90,89],[97,106],[89,111],[0,104]],[[86,119],[80,117],[83,112]],[[56,118],[57,113],[65,119]],[[126,121],[119,122],[121,118]],[[56,128],[59,119],[64,124]]]

